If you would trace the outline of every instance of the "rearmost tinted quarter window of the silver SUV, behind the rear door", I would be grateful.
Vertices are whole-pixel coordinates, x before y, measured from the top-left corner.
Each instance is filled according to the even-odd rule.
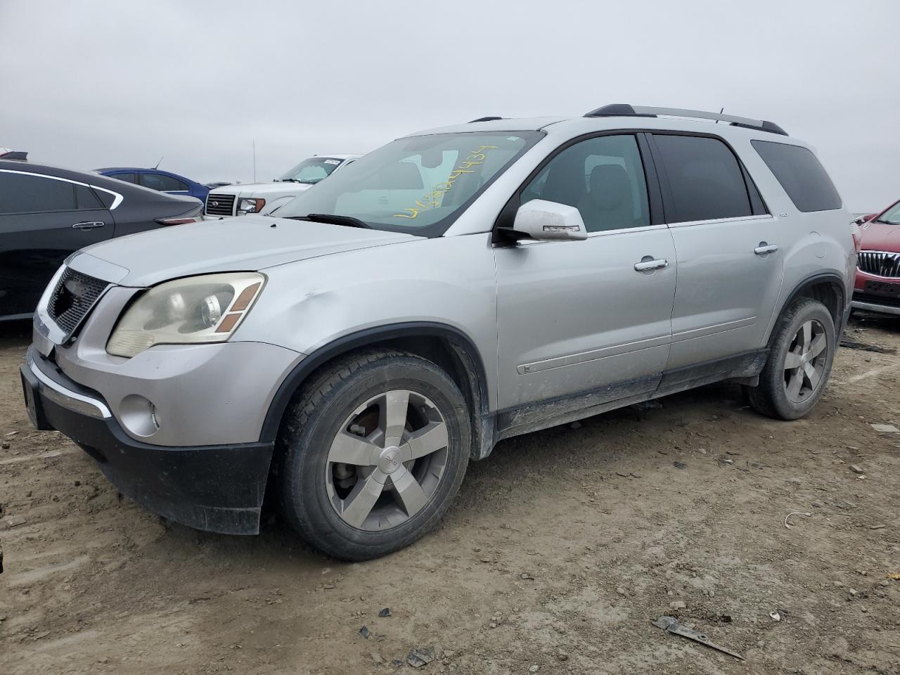
[[[779,179],[797,211],[832,211],[841,208],[841,195],[809,148],[769,140],[752,140],[762,161]]]

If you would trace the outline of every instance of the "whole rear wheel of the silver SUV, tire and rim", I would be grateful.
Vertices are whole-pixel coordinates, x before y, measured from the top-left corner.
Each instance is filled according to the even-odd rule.
[[[824,304],[809,298],[792,304],[775,327],[759,386],[748,389],[752,408],[775,419],[804,417],[828,383],[836,342]]]

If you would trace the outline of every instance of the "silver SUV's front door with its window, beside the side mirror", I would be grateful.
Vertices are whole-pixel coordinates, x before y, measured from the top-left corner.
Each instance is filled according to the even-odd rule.
[[[520,203],[578,208],[589,236],[495,248],[500,409],[556,399],[555,415],[659,384],[676,261],[647,152],[631,134],[580,140],[523,187]]]

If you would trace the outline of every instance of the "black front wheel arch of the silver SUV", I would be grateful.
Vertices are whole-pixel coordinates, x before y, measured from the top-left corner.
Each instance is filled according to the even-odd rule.
[[[463,392],[473,413],[473,459],[488,455],[493,446],[488,379],[484,361],[469,336],[453,326],[410,321],[363,329],[332,340],[306,356],[279,385],[260,432],[260,440],[274,442],[284,413],[302,384],[339,356],[364,348],[401,349],[442,367]]]

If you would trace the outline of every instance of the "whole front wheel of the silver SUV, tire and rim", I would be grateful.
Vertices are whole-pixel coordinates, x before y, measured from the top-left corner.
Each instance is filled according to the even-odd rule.
[[[463,482],[472,428],[462,392],[437,365],[399,351],[356,352],[313,380],[279,438],[284,517],[343,560],[412,544]]]

